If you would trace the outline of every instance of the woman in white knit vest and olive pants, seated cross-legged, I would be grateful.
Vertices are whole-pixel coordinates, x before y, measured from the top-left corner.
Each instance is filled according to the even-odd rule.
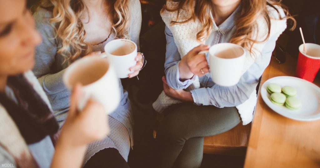
[[[165,94],[153,107],[162,111],[183,103],[165,110],[155,165],[200,167],[205,136],[252,121],[259,78],[286,21],[293,18],[276,0],[167,0],[161,16],[167,39]],[[210,54],[199,53],[219,43],[240,45],[247,53],[233,86],[215,84],[208,73]]]

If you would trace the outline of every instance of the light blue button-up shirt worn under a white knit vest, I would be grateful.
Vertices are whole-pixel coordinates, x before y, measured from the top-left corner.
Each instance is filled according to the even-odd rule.
[[[205,43],[208,45],[228,43],[236,31],[235,22],[240,15],[240,9],[241,6],[239,6],[228,19],[219,26],[216,25],[212,18],[213,29]],[[198,76],[193,76],[186,81],[180,81],[179,62],[181,56],[168,27],[165,28],[165,35],[167,46],[164,68],[168,85],[176,90],[186,89],[198,78]],[[240,78],[238,84],[230,87],[220,86],[212,81],[210,73],[206,73],[204,76],[200,77],[200,88],[191,91],[194,103],[196,105],[213,105],[223,108],[238,106],[244,103],[245,100],[248,100],[250,94],[257,87],[260,76],[269,65],[277,38],[278,35],[269,37],[265,42],[266,45],[260,51],[262,55],[256,58],[255,62]]]

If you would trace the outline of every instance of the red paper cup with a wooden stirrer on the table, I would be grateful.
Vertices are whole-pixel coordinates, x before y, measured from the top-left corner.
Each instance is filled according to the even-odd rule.
[[[307,54],[304,52],[303,44],[299,46],[299,57],[296,76],[313,82],[320,68],[320,45],[306,43]]]

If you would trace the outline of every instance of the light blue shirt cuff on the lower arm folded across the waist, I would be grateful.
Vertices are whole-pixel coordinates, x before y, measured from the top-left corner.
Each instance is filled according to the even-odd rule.
[[[193,102],[196,105],[198,106],[210,105],[210,98],[206,88],[203,87],[203,88],[192,90],[190,92],[193,98]]]

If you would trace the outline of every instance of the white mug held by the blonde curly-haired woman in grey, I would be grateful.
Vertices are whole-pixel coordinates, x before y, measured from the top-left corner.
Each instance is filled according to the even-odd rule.
[[[102,57],[108,57],[116,69],[119,78],[126,78],[130,73],[129,68],[135,66],[137,61],[137,44],[127,39],[116,39],[104,46]]]

